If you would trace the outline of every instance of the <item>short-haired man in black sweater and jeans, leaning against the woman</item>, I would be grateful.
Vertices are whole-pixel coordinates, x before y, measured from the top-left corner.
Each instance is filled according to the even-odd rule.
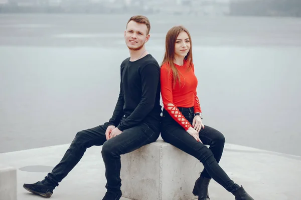
[[[156,141],[160,134],[160,66],[145,49],[149,30],[150,23],[145,16],[135,15],[127,22],[124,38],[130,57],[120,66],[119,97],[109,121],[79,131],[52,172],[42,181],[24,184],[25,189],[50,197],[86,149],[102,145],[107,180],[103,200],[120,199],[120,155]]]

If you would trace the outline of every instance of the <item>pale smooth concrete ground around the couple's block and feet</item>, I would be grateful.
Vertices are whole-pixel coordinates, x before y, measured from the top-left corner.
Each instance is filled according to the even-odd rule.
[[[1,165],[18,169],[18,200],[42,199],[26,191],[22,185],[41,180],[60,161],[68,146],[64,144],[0,154]],[[100,151],[101,147],[87,149],[78,165],[54,190],[51,199],[101,199],[106,180]],[[227,143],[220,164],[256,200],[292,200],[301,195],[298,184],[301,178],[299,156]],[[214,200],[234,199],[215,181],[210,184],[210,195]]]

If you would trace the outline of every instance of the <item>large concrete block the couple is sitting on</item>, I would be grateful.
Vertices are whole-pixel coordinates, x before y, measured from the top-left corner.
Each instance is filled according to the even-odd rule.
[[[122,196],[134,200],[191,200],[204,169],[195,157],[159,138],[121,155]]]

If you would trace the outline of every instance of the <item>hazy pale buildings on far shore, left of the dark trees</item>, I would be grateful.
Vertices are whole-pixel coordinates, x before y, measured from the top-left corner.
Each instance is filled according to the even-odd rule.
[[[229,0],[0,0],[11,10],[84,13],[225,15]]]

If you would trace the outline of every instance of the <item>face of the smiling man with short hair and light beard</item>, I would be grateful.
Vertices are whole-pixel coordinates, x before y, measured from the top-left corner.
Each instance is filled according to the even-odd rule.
[[[137,23],[133,20],[128,22],[124,31],[124,38],[127,47],[131,50],[139,50],[148,41],[147,26],[144,23]]]

